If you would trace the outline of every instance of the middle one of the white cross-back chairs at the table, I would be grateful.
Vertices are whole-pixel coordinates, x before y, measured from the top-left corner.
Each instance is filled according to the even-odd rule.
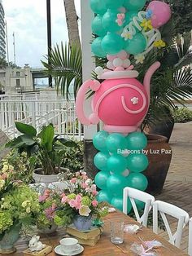
[[[168,204],[164,201],[155,201],[153,204],[153,232],[156,234],[158,233],[158,212],[160,213],[166,231],[168,232],[169,242],[172,245],[177,246],[180,248],[181,246],[181,236],[183,232],[183,228],[189,222],[190,216],[181,208],[177,207],[176,205]],[[177,231],[172,234],[172,230],[168,223],[168,218],[165,214],[172,216],[173,218],[177,218]]]

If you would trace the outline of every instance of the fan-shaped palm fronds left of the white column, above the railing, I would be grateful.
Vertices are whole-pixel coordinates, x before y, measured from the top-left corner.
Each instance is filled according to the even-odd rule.
[[[67,44],[58,44],[54,46],[49,55],[46,55],[46,61],[41,61],[47,68],[46,73],[55,78],[57,90],[61,90],[63,96],[69,99],[70,88],[73,86],[73,93],[76,92],[82,84],[82,54],[81,46],[68,46]]]

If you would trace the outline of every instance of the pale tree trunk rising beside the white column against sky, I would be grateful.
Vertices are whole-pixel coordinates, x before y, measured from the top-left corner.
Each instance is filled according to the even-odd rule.
[[[72,43],[76,43],[76,45],[80,46],[80,36],[79,36],[79,29],[77,23],[77,15],[76,15],[76,7],[74,0],[63,0],[64,8],[65,8],[65,15],[66,21],[68,24],[68,38],[70,46]]]

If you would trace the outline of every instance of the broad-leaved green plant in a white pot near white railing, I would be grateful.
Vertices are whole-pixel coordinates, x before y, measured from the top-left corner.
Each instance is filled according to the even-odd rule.
[[[74,141],[55,135],[52,124],[43,126],[39,133],[33,126],[21,122],[15,122],[15,126],[22,135],[8,142],[7,147],[17,148],[20,153],[27,152],[28,157],[36,156],[39,167],[33,171],[36,183],[55,182],[61,171],[68,171],[61,166],[61,162],[66,148],[77,147]]]

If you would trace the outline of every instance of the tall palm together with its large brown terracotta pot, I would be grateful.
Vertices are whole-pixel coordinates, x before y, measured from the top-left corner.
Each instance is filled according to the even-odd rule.
[[[170,31],[168,33],[170,41],[172,34]],[[142,130],[149,134],[146,148],[149,166],[144,174],[149,181],[147,191],[153,194],[162,191],[172,159],[171,147],[167,143],[169,138],[166,138],[171,135],[167,133],[168,126],[173,128],[172,112],[177,108],[177,104],[184,105],[185,99],[192,96],[192,74],[189,68],[192,55],[188,36],[189,34],[185,34],[184,44],[181,44],[181,37],[177,37],[164,50],[151,52],[142,64],[140,73],[140,77],[143,77],[146,68],[154,59],[161,63],[161,67],[151,79],[151,104],[142,123]],[[165,34],[164,37],[166,38]],[[164,133],[160,129],[162,127]]]

